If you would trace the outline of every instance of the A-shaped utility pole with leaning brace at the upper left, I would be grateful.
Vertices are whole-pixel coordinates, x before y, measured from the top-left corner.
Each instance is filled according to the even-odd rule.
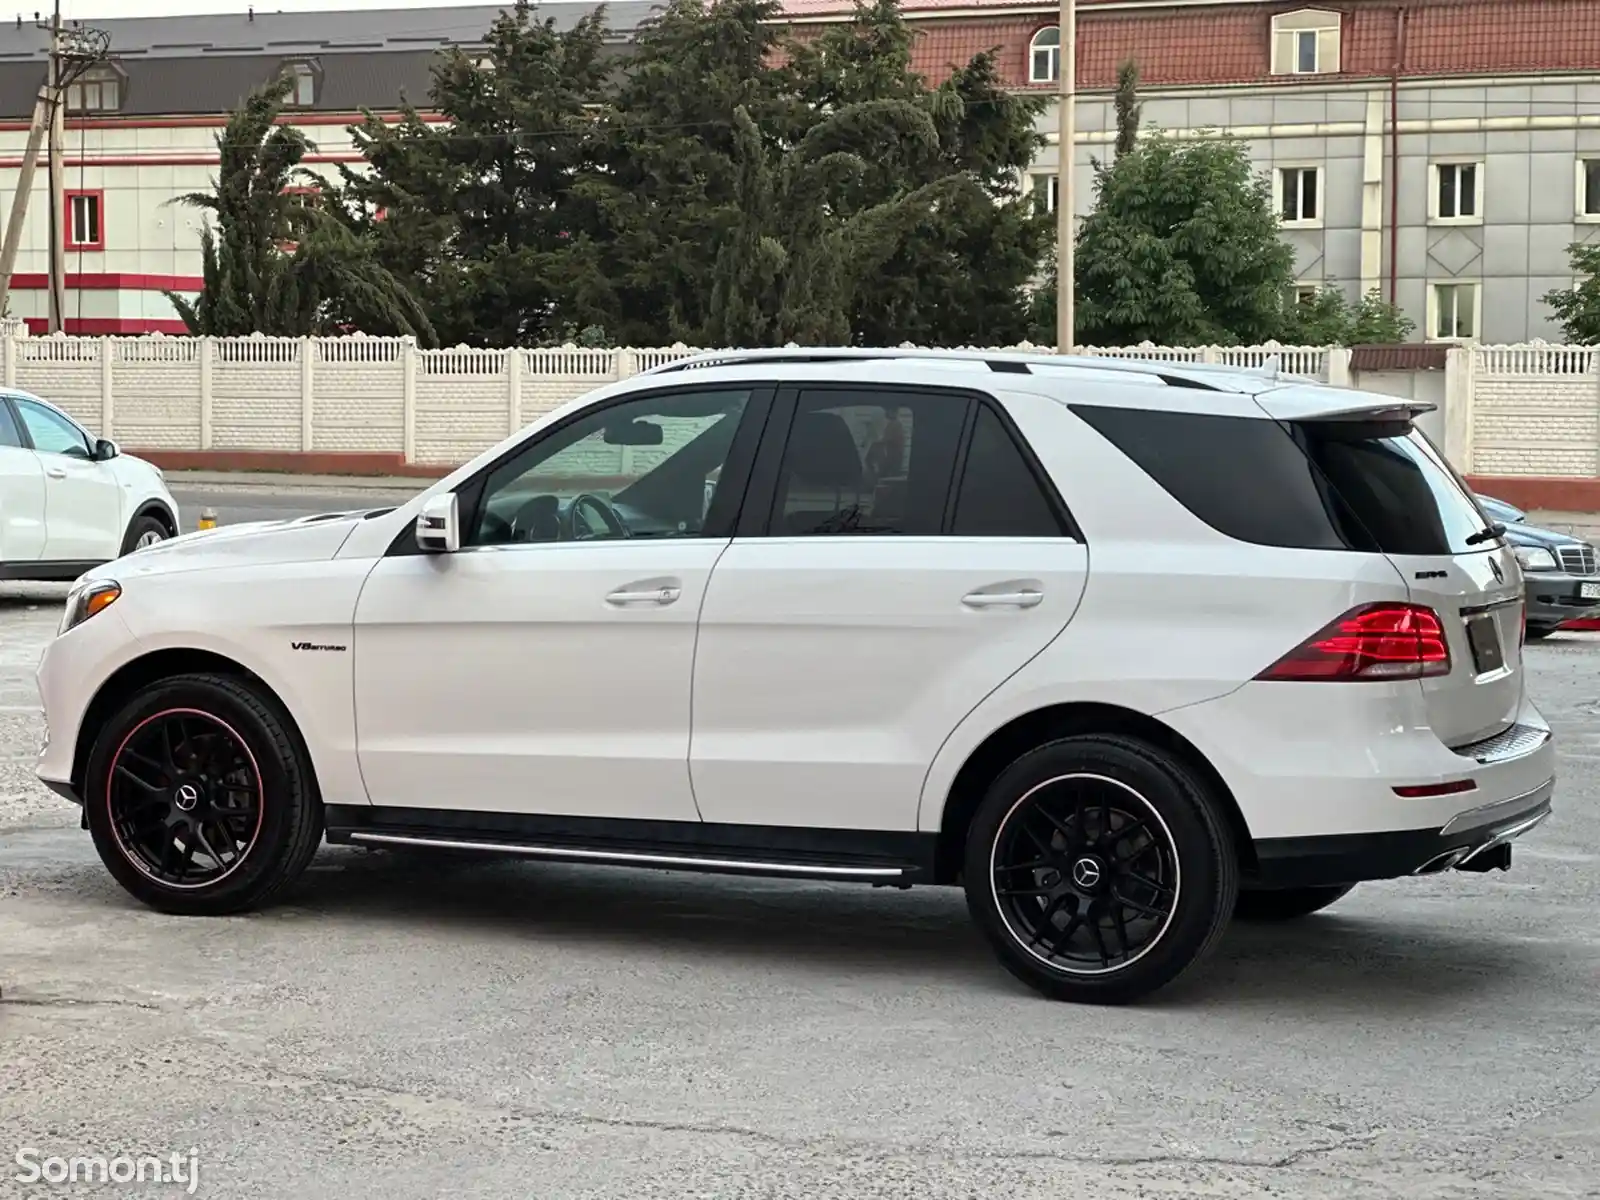
[[[34,176],[38,170],[38,150],[50,134],[50,328],[61,328],[66,314],[66,171],[61,155],[66,142],[66,96],[85,70],[106,61],[110,35],[98,29],[62,29],[61,0],[48,26],[50,59],[45,69],[45,86],[34,102],[34,120],[27,131],[27,149],[22,152],[22,168],[18,173],[16,194],[11,197],[11,214],[6,219],[5,243],[0,245],[0,312],[11,296],[11,275],[16,272],[16,256],[22,245],[22,229],[27,224],[27,203],[34,195]]]

